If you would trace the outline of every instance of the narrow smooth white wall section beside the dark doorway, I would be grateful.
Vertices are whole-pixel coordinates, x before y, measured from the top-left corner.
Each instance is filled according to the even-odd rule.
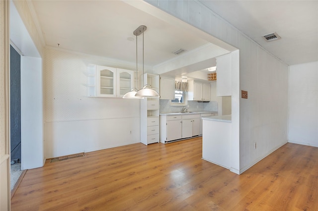
[[[42,59],[21,56],[22,170],[44,165],[42,83]]]

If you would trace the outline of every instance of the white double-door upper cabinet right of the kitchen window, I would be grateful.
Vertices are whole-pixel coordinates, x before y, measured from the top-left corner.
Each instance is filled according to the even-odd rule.
[[[188,101],[210,101],[211,84],[200,81],[188,81]]]

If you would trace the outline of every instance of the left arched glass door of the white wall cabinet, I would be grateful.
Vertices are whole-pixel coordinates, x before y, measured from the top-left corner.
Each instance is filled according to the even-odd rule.
[[[116,68],[97,65],[97,97],[116,97]]]

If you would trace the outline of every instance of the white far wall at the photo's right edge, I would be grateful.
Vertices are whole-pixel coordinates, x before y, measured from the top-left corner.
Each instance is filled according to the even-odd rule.
[[[291,65],[288,142],[318,147],[318,61]]]

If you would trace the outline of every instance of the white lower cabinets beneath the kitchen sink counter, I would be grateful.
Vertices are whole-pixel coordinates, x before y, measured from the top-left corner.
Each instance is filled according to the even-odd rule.
[[[200,114],[160,115],[160,142],[200,135]]]

